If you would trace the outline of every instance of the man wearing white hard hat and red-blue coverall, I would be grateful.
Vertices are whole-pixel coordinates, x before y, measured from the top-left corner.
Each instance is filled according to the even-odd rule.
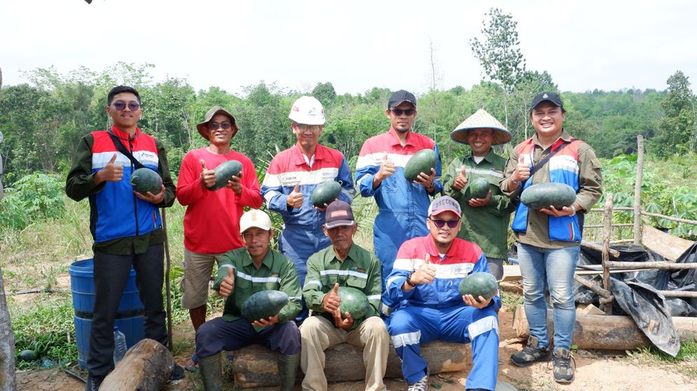
[[[303,285],[310,255],[331,244],[322,232],[326,207],[312,206],[312,191],[333,180],[342,187],[338,199],[350,203],[355,190],[344,155],[318,142],[324,129],[322,104],[313,97],[300,97],[288,118],[298,142],[271,160],[261,195],[268,208],[280,213],[285,222],[279,248],[295,263]]]

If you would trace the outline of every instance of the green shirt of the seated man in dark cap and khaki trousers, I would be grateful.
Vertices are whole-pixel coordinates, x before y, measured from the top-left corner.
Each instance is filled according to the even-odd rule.
[[[322,300],[334,284],[339,283],[340,287],[354,287],[364,292],[371,306],[364,318],[354,319],[351,327],[354,329],[364,319],[378,315],[382,293],[380,269],[378,257],[356,243],[352,244],[343,261],[338,259],[332,246],[319,250],[308,259],[308,275],[305,276],[303,287],[305,304],[312,310],[312,315],[322,315],[333,324],[333,315],[324,312]]]

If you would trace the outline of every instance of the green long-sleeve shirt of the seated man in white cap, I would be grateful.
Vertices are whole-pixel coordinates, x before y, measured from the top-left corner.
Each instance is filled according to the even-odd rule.
[[[213,285],[220,290],[220,283],[228,276],[228,268],[233,268],[235,285],[233,292],[225,300],[223,320],[232,322],[242,318],[240,310],[247,298],[263,290],[280,290],[288,295],[289,301],[278,313],[279,322],[295,319],[303,306],[301,301],[300,280],[293,262],[281,253],[269,249],[261,266],[256,269],[247,248],[240,247],[223,254],[218,267],[218,277]]]

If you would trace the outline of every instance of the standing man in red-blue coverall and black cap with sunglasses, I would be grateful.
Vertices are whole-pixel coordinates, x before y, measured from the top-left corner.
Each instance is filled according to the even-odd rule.
[[[389,130],[366,140],[356,164],[356,185],[361,195],[375,197],[378,204],[373,247],[382,264],[383,285],[392,272],[399,246],[408,239],[428,234],[424,219],[429,196],[435,197],[443,190],[438,147],[428,136],[413,131],[416,114],[414,94],[405,90],[394,92],[385,110]],[[436,168],[420,173],[410,183],[404,178],[404,166],[422,149],[436,152]],[[389,316],[394,305],[383,295],[380,312]]]

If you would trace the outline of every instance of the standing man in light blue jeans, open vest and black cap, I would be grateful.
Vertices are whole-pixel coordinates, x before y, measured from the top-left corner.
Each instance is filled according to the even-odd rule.
[[[564,104],[558,94],[541,92],[534,97],[530,120],[536,134],[511,150],[499,184],[509,197],[537,183],[548,182],[570,185],[577,192],[574,203],[561,209],[549,206],[532,210],[520,203],[511,225],[518,242],[525,315],[530,323],[527,346],[513,354],[511,360],[527,367],[553,358],[554,380],[558,383],[571,383],[574,379],[569,353],[576,321],[572,286],[582,216],[602,196],[600,162],[590,145],[564,131],[565,118]],[[546,290],[550,292],[554,313],[553,352],[547,335]]]

